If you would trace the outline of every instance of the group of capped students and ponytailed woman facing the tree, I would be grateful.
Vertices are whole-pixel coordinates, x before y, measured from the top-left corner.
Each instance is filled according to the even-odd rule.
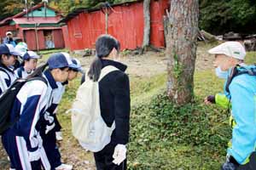
[[[116,127],[109,144],[94,153],[97,170],[126,169],[130,85],[125,74],[127,66],[115,61],[119,57],[119,49],[119,42],[114,37],[99,37],[96,41],[96,59],[86,73],[96,82],[104,67],[112,65],[117,68],[99,82],[102,118],[107,125],[115,122]],[[61,161],[57,145],[57,141],[62,139],[61,124],[56,111],[65,85],[79,72],[84,74],[84,71],[79,59],[71,58],[67,53],[51,54],[44,65],[37,67],[39,58],[38,54],[27,49],[22,53],[20,47],[15,48],[13,44],[0,45],[0,94],[19,78],[29,79],[40,75],[40,72],[43,77],[43,81],[34,79],[20,88],[12,106],[10,121],[15,122],[17,115],[20,117],[3,132],[3,147],[9,156],[10,169],[71,170],[72,165]],[[17,64],[18,60],[21,60],[21,64]]]

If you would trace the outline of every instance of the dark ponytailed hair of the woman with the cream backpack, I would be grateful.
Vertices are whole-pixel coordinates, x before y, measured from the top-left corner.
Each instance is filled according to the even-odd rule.
[[[108,57],[113,48],[119,52],[120,43],[114,37],[104,34],[97,38],[96,40],[96,58],[92,61],[90,65],[90,70],[88,71],[88,76],[94,82],[98,81],[101,71],[102,71],[102,58]]]

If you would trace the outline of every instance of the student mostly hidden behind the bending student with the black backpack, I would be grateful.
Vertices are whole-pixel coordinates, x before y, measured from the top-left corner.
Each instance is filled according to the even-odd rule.
[[[65,54],[65,53],[63,53]],[[72,59],[73,65],[70,65],[70,71],[68,74],[68,81],[72,81],[77,77],[78,72],[83,72],[81,70],[81,65],[78,59]],[[62,94],[65,92],[65,85],[68,82],[57,82],[58,88],[53,90],[53,100],[47,114],[52,117],[51,121],[46,123],[46,131],[42,133],[43,145],[48,156],[49,163],[52,167],[52,170],[61,169],[61,170],[71,170],[73,166],[67,165],[61,162],[61,153],[57,146],[57,141],[61,140],[61,124],[57,119],[56,110],[57,106],[61,102]]]

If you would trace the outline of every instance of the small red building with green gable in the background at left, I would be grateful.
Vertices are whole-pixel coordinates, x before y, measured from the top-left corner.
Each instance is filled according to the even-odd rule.
[[[45,48],[65,48],[63,33],[59,21],[61,14],[44,3],[0,21],[0,39],[6,37],[6,31],[12,31],[14,37],[20,37],[30,50]]]

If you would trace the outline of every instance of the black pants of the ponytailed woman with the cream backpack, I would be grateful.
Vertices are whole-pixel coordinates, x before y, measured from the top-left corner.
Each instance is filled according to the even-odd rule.
[[[113,150],[116,144],[108,144],[103,150],[94,153],[97,170],[126,170],[126,160],[123,161],[119,166],[115,165],[113,161]]]

